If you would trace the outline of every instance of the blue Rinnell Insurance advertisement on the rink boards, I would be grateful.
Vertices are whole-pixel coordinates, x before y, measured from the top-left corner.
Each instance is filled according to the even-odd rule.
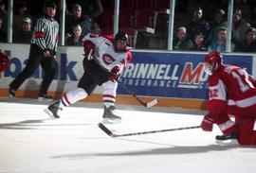
[[[133,52],[120,80],[136,95],[208,99],[205,54]],[[225,55],[224,63],[252,71],[252,56]],[[119,87],[118,93],[127,93]]]

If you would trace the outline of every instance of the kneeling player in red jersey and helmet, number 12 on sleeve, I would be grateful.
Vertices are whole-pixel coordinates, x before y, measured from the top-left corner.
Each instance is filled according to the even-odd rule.
[[[201,129],[211,131],[215,123],[223,132],[216,140],[238,139],[240,145],[256,145],[256,79],[236,65],[224,64],[216,51],[205,57],[205,71],[210,75],[209,113]]]

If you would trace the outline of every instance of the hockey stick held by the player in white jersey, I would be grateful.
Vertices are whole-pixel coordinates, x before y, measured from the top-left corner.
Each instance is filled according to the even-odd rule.
[[[88,56],[87,56],[87,60],[89,60],[89,61],[94,60],[99,66],[101,66],[102,69],[104,69],[107,73],[110,73],[109,71],[107,71],[107,70],[101,65],[101,63],[100,63],[98,60],[96,60],[96,59],[94,58],[94,56],[93,56],[92,54],[93,54],[93,50],[91,49],[90,52],[89,52],[89,54],[88,54]],[[139,99],[139,97],[137,97],[137,95],[135,95],[133,92],[131,92],[130,90],[128,90],[128,89],[121,83],[121,81],[120,81],[119,79],[117,79],[116,81],[119,83],[119,86],[120,86],[123,90],[125,90],[129,95],[133,95],[133,96],[137,99],[137,101],[138,101],[141,105],[143,105],[144,107],[150,108],[150,107],[153,107],[155,104],[157,104],[157,99],[156,99],[156,98],[153,99],[153,100],[150,101],[150,102],[143,102],[141,99]]]

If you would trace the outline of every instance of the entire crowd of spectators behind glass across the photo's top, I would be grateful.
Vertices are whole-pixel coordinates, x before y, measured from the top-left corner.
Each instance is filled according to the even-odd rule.
[[[82,45],[87,33],[104,34],[101,31],[103,0],[66,0],[65,45]],[[122,0],[120,0],[121,2]],[[154,0],[153,0],[154,1]],[[169,0],[166,0],[169,1]],[[188,0],[177,0],[182,8],[177,12],[188,13]],[[7,42],[7,2],[0,0],[0,42]],[[55,1],[60,8],[60,0]],[[13,43],[29,43],[35,20],[44,14],[45,1],[15,0],[13,9]],[[187,6],[186,6],[187,4]],[[174,50],[226,51],[228,37],[228,0],[204,0],[201,7],[188,13],[188,23],[179,26],[174,23]],[[180,7],[180,6],[179,6]],[[109,8],[109,7],[108,7]],[[113,7],[112,7],[113,8]],[[169,7],[166,7],[169,9]],[[114,9],[113,9],[114,10]],[[56,20],[60,22],[60,10]],[[127,20],[128,21],[128,20]],[[256,52],[256,2],[234,0],[231,51]],[[145,47],[146,48],[146,47]]]

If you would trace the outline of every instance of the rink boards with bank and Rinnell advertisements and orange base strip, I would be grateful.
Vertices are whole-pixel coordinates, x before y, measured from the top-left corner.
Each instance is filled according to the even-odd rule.
[[[1,74],[0,96],[7,96],[9,82],[15,78],[27,63],[29,45],[0,43],[11,57],[9,68]],[[133,60],[127,65],[121,82],[145,101],[158,98],[162,107],[205,109],[208,99],[208,78],[204,72],[203,59],[206,53],[132,50]],[[76,88],[82,77],[82,47],[60,46],[56,58],[56,77],[49,92],[55,98],[63,92]],[[224,62],[239,64],[249,74],[256,75],[255,55],[225,54]],[[38,68],[34,75],[20,87],[17,96],[36,97],[44,72]],[[101,102],[101,87],[88,101]],[[137,105],[137,100],[126,91],[118,89],[120,104]]]

